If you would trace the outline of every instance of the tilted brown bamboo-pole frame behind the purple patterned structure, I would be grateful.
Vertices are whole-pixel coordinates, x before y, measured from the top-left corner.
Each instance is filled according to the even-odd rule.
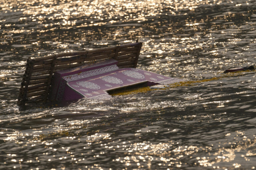
[[[54,72],[114,58],[119,68],[136,68],[142,42],[28,58],[18,105],[47,101]]]

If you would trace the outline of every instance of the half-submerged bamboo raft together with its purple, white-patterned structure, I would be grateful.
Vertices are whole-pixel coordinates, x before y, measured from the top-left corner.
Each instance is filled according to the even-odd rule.
[[[180,79],[136,69],[142,42],[28,58],[18,105],[80,98],[104,99],[138,84],[171,84]]]

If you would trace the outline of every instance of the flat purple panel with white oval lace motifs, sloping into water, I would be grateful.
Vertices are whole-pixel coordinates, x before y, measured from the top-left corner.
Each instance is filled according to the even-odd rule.
[[[180,82],[180,79],[170,78],[160,74],[136,68],[121,68],[97,74],[96,70],[91,70],[91,76],[68,81],[67,85],[77,92],[80,97],[103,99],[111,97],[107,91],[126,86],[148,82],[148,85],[171,84]],[[88,75],[86,73],[85,75]],[[72,95],[65,94],[64,100],[69,100]]]

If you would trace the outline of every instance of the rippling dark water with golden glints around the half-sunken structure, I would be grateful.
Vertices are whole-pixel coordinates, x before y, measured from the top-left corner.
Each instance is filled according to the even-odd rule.
[[[136,39],[137,68],[192,83],[16,105],[27,57]],[[254,0],[2,0],[0,169],[255,169],[255,71],[223,73],[255,51]]]

